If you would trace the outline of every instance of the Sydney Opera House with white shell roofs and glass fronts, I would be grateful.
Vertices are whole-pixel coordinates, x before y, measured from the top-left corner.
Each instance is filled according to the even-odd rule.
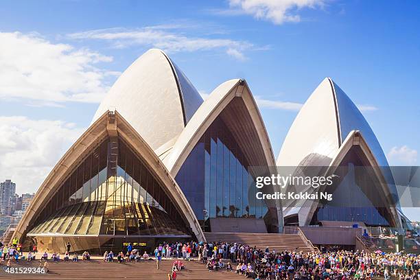
[[[348,220],[345,209],[323,202],[257,200],[248,167],[322,165],[332,174],[349,163],[388,166],[369,124],[331,79],[299,112],[276,162],[246,81],[226,81],[203,101],[163,51],[150,49],[104,97],[91,126],[39,187],[14,236],[40,250],[63,250],[71,242],[73,250],[103,251],[126,242],[153,246],[202,241],[206,232],[279,233],[284,223]],[[392,176],[372,176],[381,182],[375,194],[393,206],[360,207],[352,221],[403,226],[391,201]],[[369,200],[363,189],[371,182],[364,183],[355,188]]]

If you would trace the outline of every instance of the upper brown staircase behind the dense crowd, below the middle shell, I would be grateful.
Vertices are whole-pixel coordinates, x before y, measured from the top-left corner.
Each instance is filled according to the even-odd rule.
[[[310,244],[305,242],[299,234],[281,234],[281,233],[205,233],[207,242],[235,242],[246,244],[248,246],[257,246],[276,252],[284,250],[295,250],[311,252],[314,250]]]

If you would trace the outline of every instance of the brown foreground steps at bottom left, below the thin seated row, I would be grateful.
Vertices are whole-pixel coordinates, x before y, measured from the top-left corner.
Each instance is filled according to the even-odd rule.
[[[126,262],[104,262],[101,259],[91,261],[49,261],[49,272],[47,274],[32,273],[6,273],[5,261],[0,263],[0,279],[168,279],[168,274],[172,271],[173,259],[163,259],[161,268],[156,269],[156,261]],[[185,268],[178,272],[177,279],[188,280],[233,280],[244,279],[243,276],[233,272],[217,271],[209,272],[205,264],[198,260],[183,261]],[[21,260],[18,264],[11,261],[11,268],[38,268],[40,261]],[[19,271],[18,271],[19,272]]]

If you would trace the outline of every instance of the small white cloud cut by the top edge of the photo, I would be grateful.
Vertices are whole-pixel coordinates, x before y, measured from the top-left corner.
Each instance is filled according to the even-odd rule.
[[[230,9],[218,14],[250,14],[255,19],[264,19],[277,25],[285,22],[299,22],[297,13],[302,8],[322,8],[325,0],[229,0]]]

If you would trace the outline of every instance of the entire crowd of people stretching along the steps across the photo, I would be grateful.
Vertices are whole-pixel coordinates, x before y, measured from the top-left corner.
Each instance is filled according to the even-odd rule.
[[[49,255],[46,251],[40,255],[48,269],[47,261],[78,261],[78,253],[69,253],[70,244],[64,257],[60,253]],[[89,252],[81,254],[82,260],[91,259]],[[0,259],[10,261],[35,259],[32,250],[23,256],[21,244],[13,240],[8,246],[1,246]],[[381,277],[388,280],[419,279],[420,256],[403,253],[366,253],[363,250],[327,250],[325,252],[284,251],[276,252],[266,248],[256,248],[246,244],[229,242],[176,242],[159,244],[150,254],[135,248],[132,244],[124,247],[117,255],[112,250],[103,255],[105,262],[118,261],[156,261],[156,269],[162,259],[173,259],[171,279],[176,279],[176,272],[185,268],[183,261],[198,259],[205,264],[209,272],[227,270],[244,275],[250,279],[372,279]]]

